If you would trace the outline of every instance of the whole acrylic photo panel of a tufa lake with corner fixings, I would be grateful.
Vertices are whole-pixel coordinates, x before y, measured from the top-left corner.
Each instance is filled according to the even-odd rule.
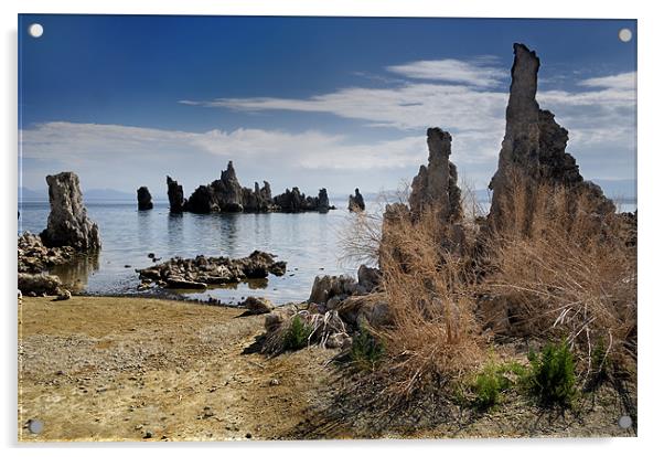
[[[19,440],[636,435],[635,20],[18,30]]]

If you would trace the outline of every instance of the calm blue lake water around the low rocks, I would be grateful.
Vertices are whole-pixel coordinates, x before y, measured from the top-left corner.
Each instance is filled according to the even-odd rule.
[[[88,216],[99,225],[101,252],[98,258],[82,258],[51,273],[88,294],[136,294],[136,268],[153,265],[154,253],[171,257],[245,257],[255,249],[276,254],[288,263],[285,276],[240,283],[236,287],[208,288],[203,293],[181,291],[190,298],[217,298],[236,304],[248,295],[268,297],[276,304],[309,298],[317,275],[354,275],[356,267],[339,262],[340,231],[347,221],[347,202],[334,201],[339,210],[326,214],[190,214],[171,215],[168,202],[151,211],[138,211],[133,202],[89,202]],[[46,227],[49,203],[19,205],[19,233],[40,233]],[[126,267],[129,265],[129,267]]]

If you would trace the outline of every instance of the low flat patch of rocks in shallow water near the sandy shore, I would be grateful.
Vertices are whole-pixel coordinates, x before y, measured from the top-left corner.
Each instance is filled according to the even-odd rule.
[[[174,257],[149,268],[137,269],[141,278],[139,289],[154,283],[174,289],[205,289],[210,285],[239,283],[286,274],[286,262],[275,261],[272,254],[254,251],[248,257]]]

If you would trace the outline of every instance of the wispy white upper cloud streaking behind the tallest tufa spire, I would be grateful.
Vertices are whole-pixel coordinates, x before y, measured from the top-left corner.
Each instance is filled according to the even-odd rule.
[[[448,66],[453,72],[450,70],[445,76]],[[454,160],[461,166],[485,163],[481,174],[490,177],[504,135],[507,103],[506,93],[490,88],[500,79],[500,73],[490,65],[464,66],[451,60],[421,61],[388,70],[414,81],[392,88],[341,88],[303,99],[218,98],[186,103],[247,111],[326,113],[370,126],[422,134],[427,127],[439,126],[454,138]],[[420,78],[464,84],[421,83],[417,81]],[[625,163],[628,168],[635,167],[635,72],[586,78],[577,82],[577,91],[540,91],[537,95],[542,108],[556,114],[558,123],[569,130],[569,150],[590,176],[606,173],[612,162],[623,168],[615,170],[619,176],[632,172],[624,170]]]

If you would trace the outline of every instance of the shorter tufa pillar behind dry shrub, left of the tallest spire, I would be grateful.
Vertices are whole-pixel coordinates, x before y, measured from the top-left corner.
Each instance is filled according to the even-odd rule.
[[[439,213],[445,222],[461,219],[461,190],[457,185],[457,168],[450,162],[452,136],[440,128],[427,130],[429,163],[420,166],[413,179],[408,199],[414,216],[431,210]]]

